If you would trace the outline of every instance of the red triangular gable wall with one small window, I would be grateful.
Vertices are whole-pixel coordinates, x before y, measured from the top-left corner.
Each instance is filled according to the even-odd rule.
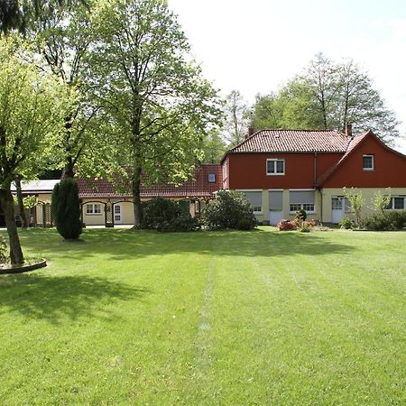
[[[363,155],[374,156],[374,170],[363,170]],[[323,188],[406,188],[406,156],[394,152],[373,134],[366,136],[328,179]]]

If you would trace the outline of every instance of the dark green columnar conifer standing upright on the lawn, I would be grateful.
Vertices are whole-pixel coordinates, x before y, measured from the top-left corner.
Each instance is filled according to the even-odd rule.
[[[52,217],[60,235],[66,240],[78,239],[82,233],[78,184],[75,180],[60,180],[52,190]]]

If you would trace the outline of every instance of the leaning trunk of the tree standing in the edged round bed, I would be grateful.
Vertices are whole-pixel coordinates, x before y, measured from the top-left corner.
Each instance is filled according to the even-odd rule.
[[[21,249],[20,238],[15,225],[14,198],[10,190],[10,184],[6,185],[6,189],[0,190],[0,202],[5,212],[5,226],[7,226],[10,244],[11,263],[23,263],[23,250]]]

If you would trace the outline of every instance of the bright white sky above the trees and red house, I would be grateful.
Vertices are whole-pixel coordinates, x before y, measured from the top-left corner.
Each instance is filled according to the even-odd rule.
[[[406,154],[405,0],[169,0],[203,75],[250,104],[277,91],[318,52],[353,59],[392,109]],[[365,129],[366,130],[366,129]]]

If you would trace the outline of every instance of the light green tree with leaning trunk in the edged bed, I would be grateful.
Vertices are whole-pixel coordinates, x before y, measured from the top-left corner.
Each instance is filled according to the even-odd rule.
[[[60,142],[73,95],[18,52],[24,51],[16,48],[12,38],[0,40],[0,203],[12,263],[23,263],[23,251],[11,184],[21,178],[31,180],[43,170]]]

